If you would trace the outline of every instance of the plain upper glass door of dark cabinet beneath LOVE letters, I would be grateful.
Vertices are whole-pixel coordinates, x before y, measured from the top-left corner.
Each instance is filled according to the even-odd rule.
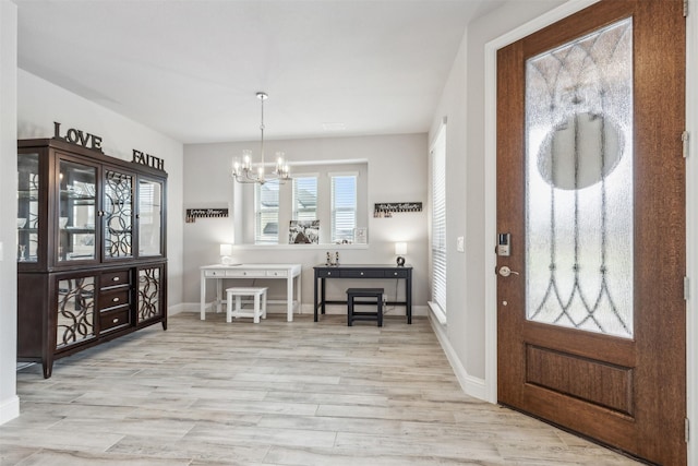
[[[96,259],[97,167],[60,160],[58,262]]]

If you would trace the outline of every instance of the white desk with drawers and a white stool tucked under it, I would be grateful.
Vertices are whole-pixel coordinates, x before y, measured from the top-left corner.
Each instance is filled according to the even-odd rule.
[[[301,306],[301,264],[240,264],[240,265],[204,265],[201,267],[201,320],[206,320],[206,282],[216,280],[216,312],[220,312],[222,303],[222,280],[231,278],[285,279],[286,301],[267,301],[269,303],[286,302],[288,321],[293,321],[293,302]],[[296,282],[296,294],[293,294]]]

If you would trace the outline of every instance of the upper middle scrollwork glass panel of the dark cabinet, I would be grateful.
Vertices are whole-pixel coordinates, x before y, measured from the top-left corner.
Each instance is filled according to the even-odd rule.
[[[107,170],[105,177],[105,258],[129,258],[133,238],[133,177]]]

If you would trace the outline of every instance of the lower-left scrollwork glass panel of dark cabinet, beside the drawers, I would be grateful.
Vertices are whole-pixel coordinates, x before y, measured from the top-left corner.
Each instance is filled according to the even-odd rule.
[[[60,349],[94,338],[94,277],[59,280],[56,348]]]

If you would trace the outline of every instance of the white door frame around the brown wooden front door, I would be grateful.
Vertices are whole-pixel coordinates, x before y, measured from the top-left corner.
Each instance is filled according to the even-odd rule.
[[[547,13],[496,37],[484,48],[484,214],[485,251],[496,247],[496,58],[497,50],[567,17],[600,0],[569,0]],[[687,416],[693,422],[688,464],[698,465],[698,0],[688,0],[686,20],[686,130],[689,132],[686,160],[686,276],[690,277],[686,301]],[[690,181],[693,180],[693,182]],[[485,276],[485,387],[486,401],[497,403],[497,280],[496,255],[486,254]]]

